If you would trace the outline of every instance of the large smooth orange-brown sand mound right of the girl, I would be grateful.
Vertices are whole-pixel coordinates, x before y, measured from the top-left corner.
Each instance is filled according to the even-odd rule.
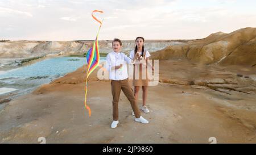
[[[204,39],[172,45],[152,53],[152,58],[171,60],[187,58],[200,64],[256,64],[256,28],[242,28],[232,33],[212,33]]]

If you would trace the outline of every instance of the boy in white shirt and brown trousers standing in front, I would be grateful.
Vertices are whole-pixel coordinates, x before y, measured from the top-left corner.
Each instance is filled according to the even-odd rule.
[[[111,79],[112,95],[113,95],[113,122],[112,128],[117,127],[118,121],[118,101],[121,90],[130,101],[131,107],[135,114],[135,122],[147,124],[148,121],[141,116],[141,112],[135,102],[134,93],[129,85],[127,64],[131,63],[131,59],[123,54],[121,51],[122,41],[114,39],[112,41],[113,52],[106,57],[107,68],[109,70],[109,79]]]

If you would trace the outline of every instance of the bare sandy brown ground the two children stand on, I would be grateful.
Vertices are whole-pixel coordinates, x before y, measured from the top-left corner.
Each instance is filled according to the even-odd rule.
[[[161,82],[148,89],[150,113],[142,112],[150,123],[134,122],[121,93],[119,124],[112,129],[110,82],[99,81],[96,72],[90,77],[89,118],[83,108],[85,72],[80,68],[5,103],[0,143],[39,143],[39,137],[46,137],[46,143],[209,143],[209,137],[216,137],[217,143],[256,143],[256,82],[237,77],[237,72],[255,76],[250,69],[161,61]],[[206,84],[198,82],[204,79]]]

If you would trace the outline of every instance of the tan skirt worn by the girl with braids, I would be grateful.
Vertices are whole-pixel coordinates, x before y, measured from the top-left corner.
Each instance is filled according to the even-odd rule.
[[[135,79],[135,72],[139,73],[139,79]],[[146,79],[142,79],[142,72],[146,72]],[[133,86],[148,86],[148,77],[147,77],[147,68],[143,68],[142,70],[142,64],[138,67],[134,66],[133,69]]]

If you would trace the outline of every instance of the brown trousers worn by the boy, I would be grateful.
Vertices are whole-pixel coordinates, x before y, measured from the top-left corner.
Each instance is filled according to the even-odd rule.
[[[113,120],[118,120],[118,102],[121,90],[131,103],[131,108],[133,108],[135,118],[139,118],[141,116],[141,112],[139,111],[134,98],[133,89],[131,89],[128,79],[123,79],[120,81],[111,80],[111,89],[113,95]]]

